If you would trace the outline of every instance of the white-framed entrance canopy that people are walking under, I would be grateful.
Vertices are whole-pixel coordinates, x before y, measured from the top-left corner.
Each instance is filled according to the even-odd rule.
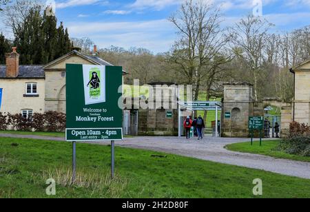
[[[216,101],[205,101],[205,102],[179,102],[178,103],[178,136],[181,137],[183,134],[183,118],[194,114],[195,111],[215,111],[215,129],[214,136],[220,137],[220,125],[218,121],[218,112],[222,111],[222,103]],[[194,116],[192,116],[194,117]],[[206,120],[205,120],[206,121]]]

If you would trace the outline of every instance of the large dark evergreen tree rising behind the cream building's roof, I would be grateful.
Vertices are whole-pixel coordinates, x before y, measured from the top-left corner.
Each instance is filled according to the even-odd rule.
[[[14,34],[23,65],[44,65],[72,50],[68,29],[62,22],[57,28],[56,17],[47,15],[46,10],[42,14],[39,6],[32,8]]]

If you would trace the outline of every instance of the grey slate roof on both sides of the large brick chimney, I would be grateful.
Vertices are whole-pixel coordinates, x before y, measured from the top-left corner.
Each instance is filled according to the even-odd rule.
[[[0,65],[0,78],[6,78],[6,65]],[[45,78],[43,65],[19,65],[17,78]]]

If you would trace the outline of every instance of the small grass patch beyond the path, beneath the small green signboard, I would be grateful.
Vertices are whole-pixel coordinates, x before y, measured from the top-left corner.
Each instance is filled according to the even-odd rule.
[[[280,143],[279,140],[263,141],[262,147],[260,147],[259,142],[254,142],[251,146],[250,142],[240,142],[232,145],[227,145],[226,149],[231,151],[240,151],[247,153],[256,153],[265,156],[271,156],[273,158],[284,158],[289,160],[300,160],[310,162],[310,157],[295,156],[282,151],[276,151],[275,148]]]

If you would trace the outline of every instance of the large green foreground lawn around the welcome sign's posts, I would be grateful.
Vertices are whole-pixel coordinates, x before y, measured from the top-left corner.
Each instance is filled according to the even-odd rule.
[[[310,180],[121,147],[110,181],[110,147],[76,148],[81,183],[68,186],[70,142],[0,138],[0,198],[48,198],[48,178],[57,182],[54,198],[255,198],[256,178],[263,182],[260,198],[310,198]]]

